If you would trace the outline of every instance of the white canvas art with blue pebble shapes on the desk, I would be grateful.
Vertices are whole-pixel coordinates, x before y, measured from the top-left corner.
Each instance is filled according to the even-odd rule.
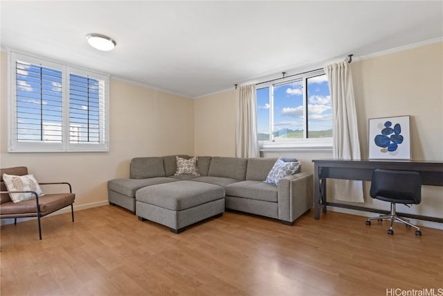
[[[369,159],[410,159],[409,116],[369,119]]]

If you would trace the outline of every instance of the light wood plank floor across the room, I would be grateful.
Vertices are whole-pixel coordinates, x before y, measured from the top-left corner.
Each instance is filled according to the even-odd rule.
[[[120,207],[1,226],[1,295],[388,295],[443,288],[443,231],[226,212],[172,234]],[[394,295],[394,294],[390,294]],[[406,294],[405,294],[406,295]],[[418,294],[416,294],[418,295]]]

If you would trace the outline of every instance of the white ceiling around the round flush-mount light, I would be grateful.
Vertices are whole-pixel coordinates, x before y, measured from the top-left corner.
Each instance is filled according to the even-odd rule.
[[[1,0],[0,12],[2,49],[190,98],[443,36],[443,1]],[[88,33],[117,46],[93,49]]]

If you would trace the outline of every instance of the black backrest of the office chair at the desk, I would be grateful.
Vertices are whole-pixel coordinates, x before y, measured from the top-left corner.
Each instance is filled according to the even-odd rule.
[[[422,201],[422,177],[412,171],[374,170],[370,195],[379,200],[419,204]]]

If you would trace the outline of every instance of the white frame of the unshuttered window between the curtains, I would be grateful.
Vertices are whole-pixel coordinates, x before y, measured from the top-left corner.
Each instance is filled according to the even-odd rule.
[[[325,71],[323,69],[318,69],[315,71],[309,71],[306,73],[300,73],[299,75],[289,76],[287,78],[281,78],[278,80],[271,80],[266,83],[257,85],[256,91],[258,89],[263,89],[269,87],[269,140],[260,140],[259,148],[260,151],[332,151],[332,137],[325,138],[308,138],[307,137],[307,127],[308,127],[308,97],[307,97],[307,80],[316,76],[324,75]],[[302,139],[275,139],[274,138],[274,100],[273,100],[273,88],[280,85],[285,85],[291,82],[302,81],[303,89],[303,138]],[[257,104],[258,107],[258,104]],[[257,121],[258,125],[258,121]],[[257,128],[258,131],[258,128]]]

